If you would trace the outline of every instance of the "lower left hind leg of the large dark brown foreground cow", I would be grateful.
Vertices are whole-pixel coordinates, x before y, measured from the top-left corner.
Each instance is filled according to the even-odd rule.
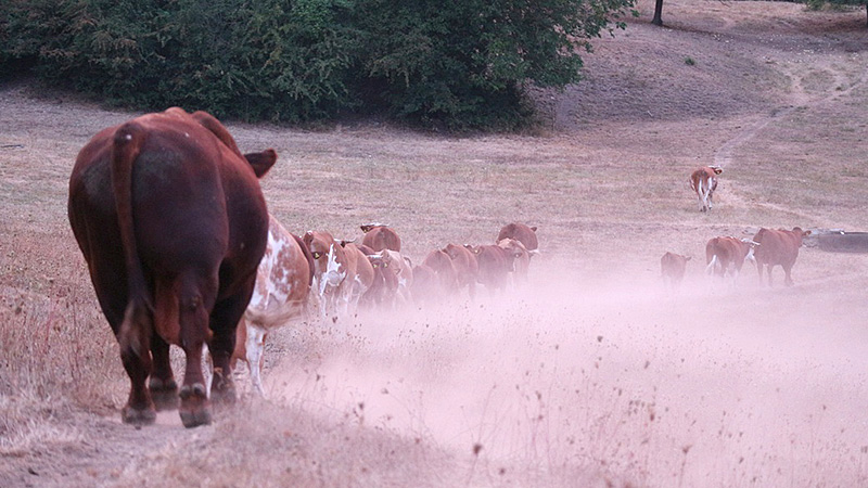
[[[156,420],[154,402],[150,391],[144,387],[153,367],[149,350],[152,333],[153,323],[150,313],[143,306],[130,303],[117,334],[120,361],[130,381],[129,398],[120,410],[120,419],[127,424],[149,425]]]

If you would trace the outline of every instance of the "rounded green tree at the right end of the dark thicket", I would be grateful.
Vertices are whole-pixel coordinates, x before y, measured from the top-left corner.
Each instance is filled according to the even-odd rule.
[[[360,0],[369,97],[424,125],[510,128],[528,84],[579,79],[588,40],[633,0]]]

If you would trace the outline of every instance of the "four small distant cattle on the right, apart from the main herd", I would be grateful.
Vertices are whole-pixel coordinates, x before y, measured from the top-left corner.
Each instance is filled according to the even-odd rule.
[[[699,168],[690,175],[690,188],[699,197],[700,211],[712,208],[712,195],[717,189],[717,175],[723,170],[719,167]],[[753,239],[738,239],[732,236],[717,236],[705,244],[705,272],[715,277],[730,277],[736,279],[744,266],[744,261],[752,261],[763,281],[763,270],[768,277],[771,286],[771,269],[780,266],[784,273],[784,284],[793,284],[790,272],[802,247],[802,240],[810,235],[809,230],[799,227],[792,230],[762,228]],[[660,258],[662,278],[673,287],[684,280],[689,256],[667,252]]]

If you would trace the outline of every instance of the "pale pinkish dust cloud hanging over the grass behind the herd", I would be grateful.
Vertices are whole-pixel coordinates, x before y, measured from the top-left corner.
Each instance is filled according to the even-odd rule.
[[[673,293],[653,273],[542,261],[505,294],[286,331],[266,391],[475,457],[488,475],[865,484],[868,307],[846,279],[768,288],[749,268]]]

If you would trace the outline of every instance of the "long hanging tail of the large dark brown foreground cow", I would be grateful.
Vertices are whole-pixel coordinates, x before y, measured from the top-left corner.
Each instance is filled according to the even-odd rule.
[[[144,271],[139,260],[132,218],[132,164],[139,156],[143,138],[144,129],[135,121],[120,126],[115,131],[112,145],[111,169],[129,293],[118,338],[122,347],[131,347],[139,354],[150,347],[150,344],[142,342],[149,339],[151,330],[150,326],[139,326],[139,324],[151,323],[153,312],[153,301],[145,286]]]

